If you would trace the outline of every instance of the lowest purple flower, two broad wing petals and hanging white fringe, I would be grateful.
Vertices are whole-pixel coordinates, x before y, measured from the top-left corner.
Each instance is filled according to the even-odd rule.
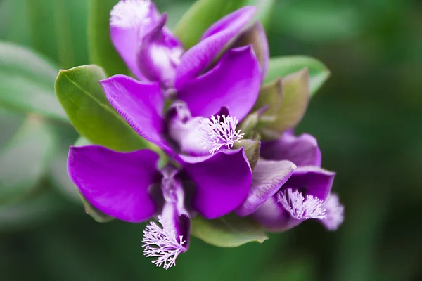
[[[88,145],[70,148],[68,173],[82,196],[108,216],[131,223],[157,216],[161,226],[148,224],[143,253],[167,269],[188,249],[191,215],[198,211],[213,218],[229,213],[241,204],[252,181],[243,150],[206,157],[181,155],[180,162],[181,170],[166,166],[159,171],[158,155],[150,150],[115,152]],[[234,173],[226,174],[222,163]],[[192,202],[185,196],[191,183],[196,188]]]

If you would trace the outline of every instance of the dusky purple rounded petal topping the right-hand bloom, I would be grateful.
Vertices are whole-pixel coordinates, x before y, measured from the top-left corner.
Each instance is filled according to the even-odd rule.
[[[262,142],[261,156],[269,160],[290,160],[297,166],[321,166],[321,151],[316,138],[303,133],[283,133],[276,141]]]

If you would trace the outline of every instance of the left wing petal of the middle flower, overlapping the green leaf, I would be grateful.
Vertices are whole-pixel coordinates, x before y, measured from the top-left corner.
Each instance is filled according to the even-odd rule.
[[[158,83],[141,83],[124,75],[100,81],[104,93],[115,110],[147,141],[171,151],[162,134],[164,98]]]

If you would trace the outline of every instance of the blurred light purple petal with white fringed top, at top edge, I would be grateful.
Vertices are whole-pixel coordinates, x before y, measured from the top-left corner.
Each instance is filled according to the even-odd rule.
[[[145,81],[138,68],[136,53],[143,34],[148,32],[159,16],[151,1],[120,1],[110,13],[110,37],[117,52],[132,73]]]

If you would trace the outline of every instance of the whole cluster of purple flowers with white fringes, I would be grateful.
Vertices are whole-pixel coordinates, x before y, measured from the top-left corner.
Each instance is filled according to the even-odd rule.
[[[343,206],[331,193],[335,174],[321,169],[315,138],[293,134],[309,99],[309,74],[281,80],[305,93],[299,107],[274,102],[288,94],[285,87],[262,90],[269,51],[262,26],[251,23],[254,14],[246,6],[226,15],[184,50],[151,1],[122,0],[111,11],[111,39],[136,79],[115,75],[101,86],[132,129],[170,161],[159,167],[151,150],[87,145],[70,148],[68,172],[104,214],[132,223],[158,219],[142,240],[156,266],[170,268],[188,250],[193,216],[234,212],[274,232],[307,219],[328,230],[343,222]],[[278,112],[296,117],[280,119],[286,115]],[[256,163],[246,140],[259,144]]]

